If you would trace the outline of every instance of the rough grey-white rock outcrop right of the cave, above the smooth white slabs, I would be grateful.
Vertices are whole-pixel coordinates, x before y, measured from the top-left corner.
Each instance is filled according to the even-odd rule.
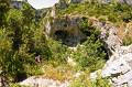
[[[100,29],[100,39],[105,43],[108,55],[114,54],[116,50],[122,45],[122,40],[118,36],[119,29],[110,23],[99,21],[94,21],[92,25]]]

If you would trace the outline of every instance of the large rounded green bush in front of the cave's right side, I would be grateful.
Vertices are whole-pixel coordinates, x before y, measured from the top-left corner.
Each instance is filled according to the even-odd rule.
[[[91,29],[91,30],[90,30]],[[73,53],[73,57],[77,62],[80,69],[89,68],[91,72],[101,68],[106,62],[107,53],[103,44],[99,40],[99,31],[95,28],[87,29],[89,36],[77,51]]]

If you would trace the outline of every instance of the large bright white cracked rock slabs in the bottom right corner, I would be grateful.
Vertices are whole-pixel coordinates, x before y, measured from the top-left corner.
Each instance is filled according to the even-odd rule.
[[[121,46],[101,69],[102,77],[109,77],[114,87],[132,87],[132,45]],[[91,73],[91,78],[97,72]]]

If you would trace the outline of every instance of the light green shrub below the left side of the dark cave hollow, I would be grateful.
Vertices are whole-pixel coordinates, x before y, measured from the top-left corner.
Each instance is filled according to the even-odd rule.
[[[61,64],[66,64],[67,58],[67,46],[62,44],[59,41],[55,41],[53,39],[50,39],[47,41],[50,51],[51,51],[51,57],[48,58],[48,62],[52,63],[55,66],[58,66]]]

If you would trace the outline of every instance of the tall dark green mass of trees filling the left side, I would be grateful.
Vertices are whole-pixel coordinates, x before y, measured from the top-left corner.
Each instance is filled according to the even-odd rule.
[[[2,14],[1,21],[4,22],[1,22],[0,26],[0,70],[9,80],[20,81],[34,73],[30,70],[36,65],[34,57],[37,55],[36,48],[40,44],[36,46],[34,42],[37,42],[35,30],[38,29],[38,25],[34,21],[35,11],[30,4],[23,3],[23,9],[13,9],[8,3],[6,0],[0,3],[0,9],[3,4],[7,4],[8,8],[2,9],[4,14]],[[37,37],[44,42],[42,32]]]

